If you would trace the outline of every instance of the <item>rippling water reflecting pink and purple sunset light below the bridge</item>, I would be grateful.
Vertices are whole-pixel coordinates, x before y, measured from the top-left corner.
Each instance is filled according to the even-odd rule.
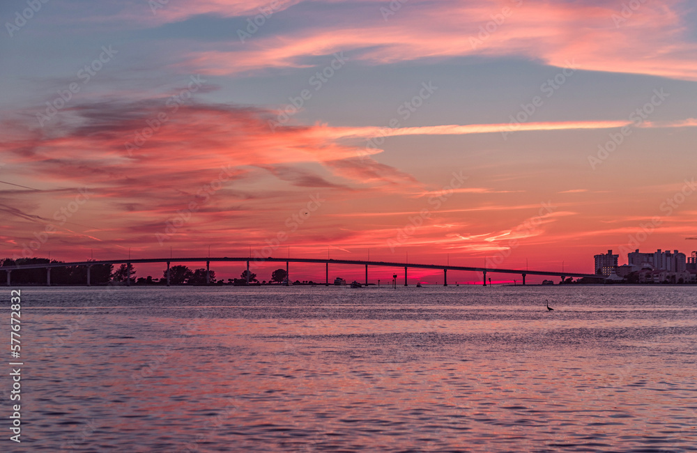
[[[695,292],[26,288],[21,450],[695,451]]]

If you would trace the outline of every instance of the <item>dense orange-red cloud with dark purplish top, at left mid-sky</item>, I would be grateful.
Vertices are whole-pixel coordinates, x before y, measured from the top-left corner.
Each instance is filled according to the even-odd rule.
[[[153,121],[162,112],[167,119]],[[272,115],[263,109],[182,105],[171,112],[159,102],[141,101],[98,102],[65,113],[69,119],[44,129],[24,125],[22,137],[15,129],[3,142],[13,156],[11,162],[31,163],[36,174],[51,172],[53,178],[66,181],[97,183],[108,178],[173,189],[189,181],[202,183],[202,169],[223,167],[239,173],[246,166],[261,166],[288,176],[288,181],[293,179],[288,171],[269,166],[300,162],[317,162],[354,183],[414,182],[369,156],[380,150],[338,144],[330,128],[288,126],[272,131]],[[54,172],[56,168],[61,171]],[[305,186],[323,184],[323,178],[313,178],[305,174],[295,179]]]

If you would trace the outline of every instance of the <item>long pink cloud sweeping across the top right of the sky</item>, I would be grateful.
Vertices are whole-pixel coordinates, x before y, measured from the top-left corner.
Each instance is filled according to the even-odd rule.
[[[642,3],[623,22],[613,18],[622,17],[622,6],[615,3],[525,1],[519,7],[510,1],[413,3],[387,21],[378,13],[377,5],[384,2],[375,3],[375,16],[193,52],[187,66],[215,75],[302,67],[307,56],[342,50],[349,60],[374,64],[523,56],[558,67],[573,63],[583,70],[697,80],[697,44],[687,36],[682,3],[677,0]]]

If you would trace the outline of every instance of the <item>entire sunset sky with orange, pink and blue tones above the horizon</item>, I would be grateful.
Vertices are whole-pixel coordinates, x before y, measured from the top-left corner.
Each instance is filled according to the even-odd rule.
[[[592,273],[608,249],[697,249],[693,1],[11,0],[0,20],[2,256]]]

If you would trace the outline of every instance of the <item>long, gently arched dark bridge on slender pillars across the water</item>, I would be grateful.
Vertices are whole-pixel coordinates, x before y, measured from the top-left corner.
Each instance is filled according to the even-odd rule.
[[[22,264],[18,266],[3,266],[0,270],[4,270],[7,274],[7,286],[10,286],[11,277],[13,270],[24,270],[24,269],[46,269],[46,285],[51,286],[51,269],[52,268],[63,268],[68,266],[86,266],[87,268],[87,286],[90,286],[90,268],[91,266],[99,264],[126,264],[127,268],[130,269],[132,264],[138,263],[167,263],[167,286],[169,286],[169,266],[170,263],[206,263],[206,283],[210,283],[210,263],[213,262],[246,262],[247,270],[250,270],[250,262],[275,262],[275,263],[286,263],[286,282],[290,281],[290,268],[289,263],[324,263],[325,264],[325,285],[329,285],[329,265],[330,264],[346,264],[351,266],[365,266],[365,284],[368,284],[368,266],[383,266],[388,268],[404,268],[404,286],[407,284],[408,268],[416,269],[443,269],[443,286],[447,286],[447,271],[448,270],[466,270],[471,272],[482,272],[484,275],[483,286],[487,286],[487,273],[498,273],[498,274],[518,274],[523,277],[523,285],[526,284],[525,279],[527,275],[544,275],[549,277],[561,277],[562,281],[566,277],[589,277],[598,278],[595,274],[584,274],[580,272],[558,272],[558,271],[548,271],[548,270],[527,270],[527,269],[499,269],[499,268],[478,268],[469,266],[450,266],[442,264],[418,264],[418,263],[395,263],[388,261],[365,261],[365,260],[352,260],[352,259],[314,259],[314,258],[228,258],[223,256],[222,258],[146,258],[146,259],[112,259],[104,261],[75,261],[72,263],[37,263],[37,264]],[[130,272],[128,272],[126,285],[130,286],[131,277]],[[247,284],[250,283],[250,272],[247,272]]]

